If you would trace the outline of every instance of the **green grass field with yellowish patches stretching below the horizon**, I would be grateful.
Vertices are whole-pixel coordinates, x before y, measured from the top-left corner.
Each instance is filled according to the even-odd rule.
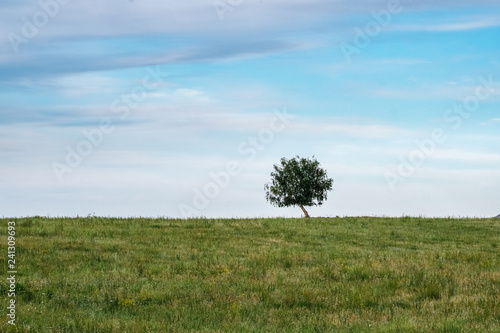
[[[500,219],[10,220],[3,332],[500,332]]]

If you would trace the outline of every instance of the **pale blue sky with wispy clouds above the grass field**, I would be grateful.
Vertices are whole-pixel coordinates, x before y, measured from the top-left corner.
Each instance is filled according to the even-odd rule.
[[[300,217],[273,165],[316,158],[311,216],[500,213],[494,0],[0,3],[0,215]]]

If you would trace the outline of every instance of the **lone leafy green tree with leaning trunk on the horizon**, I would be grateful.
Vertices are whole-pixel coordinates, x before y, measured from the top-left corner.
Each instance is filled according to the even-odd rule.
[[[307,218],[304,206],[321,206],[333,184],[314,156],[291,160],[283,157],[280,165],[274,165],[271,177],[272,183],[264,186],[266,200],[277,207],[299,206]]]

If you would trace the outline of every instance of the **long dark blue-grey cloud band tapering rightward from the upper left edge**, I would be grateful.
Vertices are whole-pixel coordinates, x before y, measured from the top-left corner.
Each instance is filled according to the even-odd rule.
[[[128,52],[112,51],[115,42],[109,40],[107,50],[101,54],[78,55],[61,54],[60,49],[71,49],[66,42],[52,43],[47,51],[45,47],[35,47],[33,52],[22,58],[11,58],[0,63],[0,82],[20,80],[25,77],[37,78],[44,76],[59,76],[71,73],[89,73],[95,71],[110,71],[156,64],[186,64],[218,62],[236,59],[260,57],[272,53],[282,53],[307,47],[293,42],[277,40],[224,42],[214,41],[213,44],[166,49],[163,52],[143,52],[130,55]],[[121,40],[120,42],[125,42]],[[85,44],[85,41],[82,41]]]

